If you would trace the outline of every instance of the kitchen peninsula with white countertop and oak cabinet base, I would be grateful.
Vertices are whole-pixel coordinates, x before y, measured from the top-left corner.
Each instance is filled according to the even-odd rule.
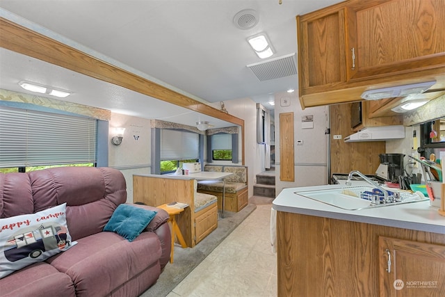
[[[445,291],[445,218],[437,208],[423,201],[350,211],[295,193],[327,188],[341,185],[286,188],[273,201],[278,296]]]

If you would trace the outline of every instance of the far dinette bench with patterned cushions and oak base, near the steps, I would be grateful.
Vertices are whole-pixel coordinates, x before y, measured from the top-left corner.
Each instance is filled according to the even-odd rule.
[[[248,167],[205,165],[204,171],[232,172],[233,175],[219,180],[202,180],[197,183],[197,191],[218,198],[218,209],[223,209],[223,191],[225,191],[225,211],[238,212],[248,204]]]

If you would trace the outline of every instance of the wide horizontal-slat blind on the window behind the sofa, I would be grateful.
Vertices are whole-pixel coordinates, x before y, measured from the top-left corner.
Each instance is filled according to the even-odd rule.
[[[96,161],[97,120],[0,106],[0,167]]]

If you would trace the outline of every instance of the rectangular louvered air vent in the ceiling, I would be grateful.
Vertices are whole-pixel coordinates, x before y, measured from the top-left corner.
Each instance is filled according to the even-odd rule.
[[[297,74],[295,53],[247,65],[260,81],[280,79]]]

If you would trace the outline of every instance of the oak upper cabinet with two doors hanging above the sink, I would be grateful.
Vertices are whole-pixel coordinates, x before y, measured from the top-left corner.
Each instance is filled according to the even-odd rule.
[[[350,0],[297,16],[302,108],[423,81],[444,90],[444,19],[444,0]]]

